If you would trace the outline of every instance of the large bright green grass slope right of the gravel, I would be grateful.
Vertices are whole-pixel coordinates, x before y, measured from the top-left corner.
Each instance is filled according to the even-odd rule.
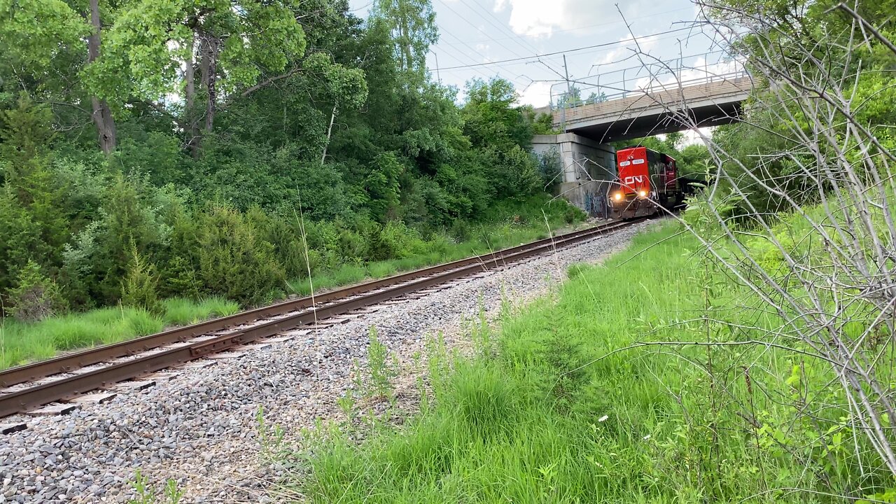
[[[413,419],[360,444],[332,432],[299,456],[303,501],[827,502],[813,491],[892,486],[819,438],[840,429],[843,413],[823,406],[831,397],[818,396],[811,420],[784,400],[810,378],[806,391],[835,394],[823,366],[749,346],[622,350],[751,336],[700,319],[707,300],[727,310],[743,292],[677,232],[654,229],[605,265],[573,266],[557,296],[504,317],[493,352],[450,366],[434,352],[434,400]]]

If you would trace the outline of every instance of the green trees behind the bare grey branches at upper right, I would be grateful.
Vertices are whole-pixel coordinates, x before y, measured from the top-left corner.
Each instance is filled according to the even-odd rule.
[[[813,174],[837,166],[833,160],[840,154],[861,173],[865,160],[873,157],[878,149],[868,152],[860,147],[861,142],[849,131],[849,124],[861,125],[868,132],[861,136],[874,135],[885,150],[892,152],[896,147],[891,127],[896,112],[890,106],[896,91],[887,76],[892,70],[892,50],[859,28],[870,23],[868,26],[874,26],[884,38],[892,40],[896,5],[891,1],[852,4],[849,8],[864,18],[857,24],[838,4],[831,0],[758,3],[725,0],[712,13],[712,18],[727,21],[738,10],[748,15],[762,12],[763,29],[745,32],[736,43],[741,54],[748,56],[746,65],[754,70],[757,83],[745,102],[744,123],[719,126],[713,132],[719,152],[726,154],[719,167],[725,175],[724,184],[739,187],[747,195],[738,213],[774,213],[788,208],[790,201],[818,203],[820,191],[834,191],[839,182],[819,183]],[[851,44],[850,40],[856,37],[866,39],[866,43]],[[760,40],[777,47],[770,61],[764,61],[767,57]],[[809,59],[813,62],[803,60],[810,52]],[[829,87],[828,79],[831,79],[840,88],[836,94],[860,105],[847,107],[842,112],[834,110],[830,116],[806,115],[801,100],[805,98],[801,96],[804,87],[777,89],[768,81],[780,77],[762,76],[765,74],[762,69],[770,64],[774,67],[771,75],[781,71],[798,74],[804,82],[813,83],[812,86]],[[820,135],[822,127],[831,130]],[[838,173],[833,178],[840,176],[847,177]]]

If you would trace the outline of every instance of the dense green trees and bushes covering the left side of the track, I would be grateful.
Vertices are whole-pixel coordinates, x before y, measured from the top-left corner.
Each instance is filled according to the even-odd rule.
[[[500,79],[459,105],[426,73],[428,0],[367,22],[344,0],[96,4],[99,33],[89,2],[0,0],[4,303],[33,261],[73,310],[123,303],[142,332],[207,316],[184,299],[259,304],[581,217],[528,153],[549,116]],[[88,333],[13,360],[106,341]]]

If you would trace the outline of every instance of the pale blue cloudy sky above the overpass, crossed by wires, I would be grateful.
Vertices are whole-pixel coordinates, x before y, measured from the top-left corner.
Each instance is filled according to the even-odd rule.
[[[689,0],[629,0],[618,8],[617,1],[432,0],[439,41],[427,66],[436,80],[457,86],[461,100],[470,79],[500,76],[534,107],[556,102],[566,72],[582,98],[593,92],[612,99],[651,82],[675,82],[665,68],[651,79],[636,47],[649,55],[645,62],[670,61],[683,80],[734,70],[711,37],[688,24],[698,14]],[[366,17],[371,0],[349,3]]]

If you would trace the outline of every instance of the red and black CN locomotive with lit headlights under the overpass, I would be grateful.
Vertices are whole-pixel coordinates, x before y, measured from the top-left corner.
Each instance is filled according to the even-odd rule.
[[[609,200],[621,219],[671,210],[684,200],[675,158],[648,149],[628,147],[616,151],[619,178],[610,187]]]

